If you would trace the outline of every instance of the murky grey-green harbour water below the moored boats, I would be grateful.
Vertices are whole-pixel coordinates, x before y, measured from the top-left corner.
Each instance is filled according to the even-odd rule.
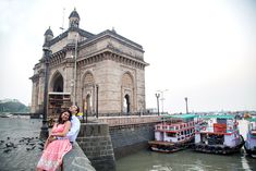
[[[240,121],[240,132],[246,138],[247,122]],[[117,160],[118,171],[256,171],[256,159],[243,149],[223,156],[196,152],[191,149],[159,154],[148,149]]]

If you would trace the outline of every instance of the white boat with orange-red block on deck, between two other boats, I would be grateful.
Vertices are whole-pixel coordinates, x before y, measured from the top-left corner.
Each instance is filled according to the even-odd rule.
[[[203,115],[202,122],[195,125],[195,144],[193,149],[208,154],[239,152],[244,138],[239,132],[235,115]]]

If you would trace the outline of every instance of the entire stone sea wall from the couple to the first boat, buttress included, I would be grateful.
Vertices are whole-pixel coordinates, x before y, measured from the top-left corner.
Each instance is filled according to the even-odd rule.
[[[76,142],[97,171],[114,171],[115,159],[148,147],[155,124],[82,123]]]

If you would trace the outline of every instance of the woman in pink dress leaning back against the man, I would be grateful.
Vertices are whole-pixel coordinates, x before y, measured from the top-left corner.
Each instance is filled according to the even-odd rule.
[[[71,129],[71,118],[72,114],[70,111],[64,111],[60,114],[58,123],[53,125],[51,134],[46,141],[44,152],[37,164],[38,171],[57,170],[62,163],[63,156],[71,150],[72,145],[68,137],[57,139],[57,136],[65,137]]]

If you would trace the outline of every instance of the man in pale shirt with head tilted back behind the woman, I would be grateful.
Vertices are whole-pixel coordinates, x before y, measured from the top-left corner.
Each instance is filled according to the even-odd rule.
[[[72,120],[71,120],[71,130],[66,134],[66,136],[69,137],[70,143],[73,144],[80,133],[81,122],[80,119],[76,117],[76,114],[80,112],[80,108],[77,106],[71,106],[69,110],[72,113]]]

